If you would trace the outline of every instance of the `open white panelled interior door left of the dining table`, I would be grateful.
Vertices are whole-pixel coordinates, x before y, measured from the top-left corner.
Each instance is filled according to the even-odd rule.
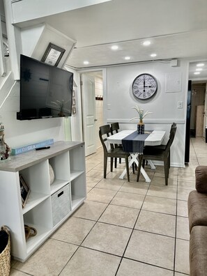
[[[95,80],[82,74],[82,112],[86,156],[96,151],[95,145]]]

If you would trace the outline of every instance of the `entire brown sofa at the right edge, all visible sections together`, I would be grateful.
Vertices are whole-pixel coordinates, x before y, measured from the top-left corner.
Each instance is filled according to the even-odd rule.
[[[207,166],[195,170],[196,190],[187,206],[190,229],[190,276],[207,275]]]

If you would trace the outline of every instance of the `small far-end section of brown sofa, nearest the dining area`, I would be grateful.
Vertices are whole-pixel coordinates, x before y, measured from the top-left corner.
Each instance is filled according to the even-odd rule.
[[[207,166],[198,166],[195,169],[196,189],[207,193]]]

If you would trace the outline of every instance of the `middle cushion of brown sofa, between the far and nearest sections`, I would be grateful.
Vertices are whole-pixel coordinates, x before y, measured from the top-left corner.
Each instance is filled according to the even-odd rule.
[[[189,229],[194,225],[207,226],[207,194],[197,191],[190,192],[187,200]]]

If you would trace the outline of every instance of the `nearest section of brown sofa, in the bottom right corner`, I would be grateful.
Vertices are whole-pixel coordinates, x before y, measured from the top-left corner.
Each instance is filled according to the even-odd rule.
[[[190,276],[206,276],[207,227],[196,226],[190,233]]]

